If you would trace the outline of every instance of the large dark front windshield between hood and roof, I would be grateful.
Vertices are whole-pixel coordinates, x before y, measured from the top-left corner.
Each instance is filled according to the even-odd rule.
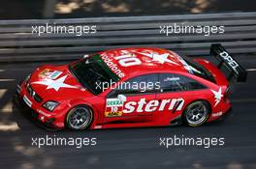
[[[95,95],[104,92],[106,85],[109,86],[119,80],[119,77],[109,69],[99,54],[70,65],[69,69],[80,83]]]

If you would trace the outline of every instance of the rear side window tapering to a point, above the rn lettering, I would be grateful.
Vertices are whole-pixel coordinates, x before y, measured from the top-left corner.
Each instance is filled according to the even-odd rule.
[[[206,89],[200,82],[175,73],[160,74],[160,92],[178,92]]]

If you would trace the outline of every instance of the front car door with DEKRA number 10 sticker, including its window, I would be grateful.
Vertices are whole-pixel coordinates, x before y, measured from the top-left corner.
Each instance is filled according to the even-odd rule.
[[[158,74],[150,73],[130,78],[113,89],[106,98],[105,124],[149,123],[153,112],[145,111],[146,103],[155,99]]]

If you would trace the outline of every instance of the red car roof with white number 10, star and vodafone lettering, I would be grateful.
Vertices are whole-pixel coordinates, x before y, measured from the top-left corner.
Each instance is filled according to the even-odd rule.
[[[117,48],[99,54],[111,70],[121,70],[126,76],[158,70],[189,72],[186,63],[176,52],[163,48]]]

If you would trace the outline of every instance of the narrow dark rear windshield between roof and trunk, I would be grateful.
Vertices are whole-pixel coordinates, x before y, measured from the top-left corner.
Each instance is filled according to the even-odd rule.
[[[191,74],[197,75],[199,77],[202,77],[204,79],[207,79],[208,81],[211,81],[213,83],[216,83],[214,77],[211,75],[211,73],[206,70],[203,66],[200,64],[192,61],[191,59],[187,57],[183,57],[184,61],[188,65],[188,70]]]

